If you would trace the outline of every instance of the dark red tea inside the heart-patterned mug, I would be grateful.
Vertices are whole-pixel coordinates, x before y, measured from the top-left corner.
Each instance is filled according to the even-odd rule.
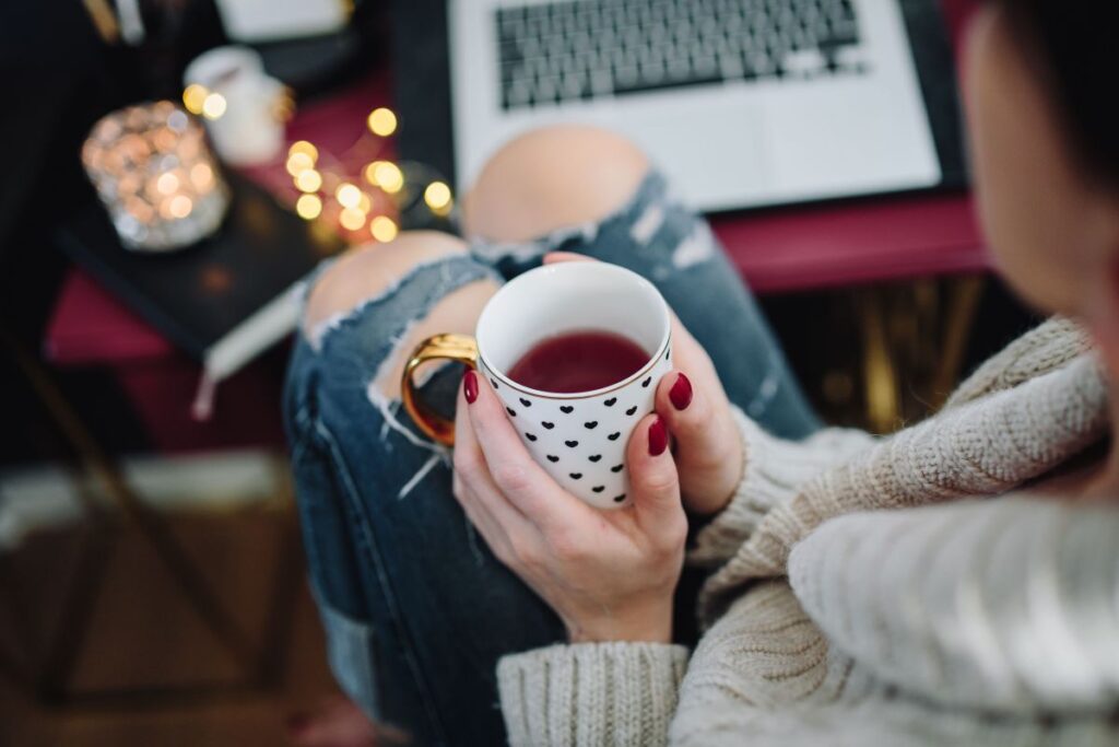
[[[523,386],[568,394],[617,384],[648,362],[649,353],[622,335],[580,329],[540,340],[508,375]]]

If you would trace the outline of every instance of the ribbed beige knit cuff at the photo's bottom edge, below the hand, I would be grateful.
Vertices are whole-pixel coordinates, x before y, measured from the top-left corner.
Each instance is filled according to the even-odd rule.
[[[581,643],[498,662],[498,692],[514,747],[665,745],[687,666],[684,646]]]

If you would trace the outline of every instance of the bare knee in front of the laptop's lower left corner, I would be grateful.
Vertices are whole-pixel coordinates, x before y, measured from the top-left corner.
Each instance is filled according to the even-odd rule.
[[[645,153],[608,130],[554,125],[498,150],[463,199],[470,235],[525,241],[621,207],[649,168]]]

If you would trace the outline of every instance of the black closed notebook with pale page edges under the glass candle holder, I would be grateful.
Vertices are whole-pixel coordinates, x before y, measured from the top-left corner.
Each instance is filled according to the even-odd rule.
[[[59,244],[114,296],[205,365],[213,384],[286,336],[300,280],[344,244],[226,171],[229,211],[213,236],[170,252],[125,249],[97,202],[59,227]]]

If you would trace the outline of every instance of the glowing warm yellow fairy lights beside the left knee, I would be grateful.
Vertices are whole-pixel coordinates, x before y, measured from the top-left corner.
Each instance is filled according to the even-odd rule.
[[[182,103],[187,111],[211,121],[225,114],[228,105],[220,93],[199,84],[184,90]],[[378,106],[369,112],[365,124],[368,133],[383,142],[396,132],[397,119],[391,109]],[[368,152],[358,144],[360,141],[347,151],[348,155]],[[389,242],[399,232],[395,218],[402,206],[420,197],[421,187],[423,204],[432,215],[446,217],[454,208],[451,188],[442,179],[432,178],[431,169],[421,164],[397,164],[374,157],[359,158],[357,166],[355,169],[352,159],[339,159],[326,150],[320,151],[308,140],[293,142],[288,149],[284,168],[291,177],[293,196],[298,195],[295,214],[305,221],[327,221],[352,241],[372,237]]]

